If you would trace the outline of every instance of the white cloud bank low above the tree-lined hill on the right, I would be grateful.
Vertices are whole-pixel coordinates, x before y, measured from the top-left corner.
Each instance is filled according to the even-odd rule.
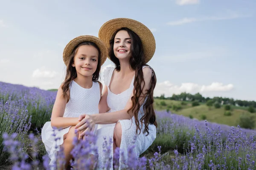
[[[206,92],[223,92],[231,91],[234,88],[233,84],[223,85],[220,82],[212,82],[210,85],[198,85],[192,82],[181,83],[181,85],[172,84],[169,81],[157,83],[154,89],[154,96],[160,96],[165,94],[165,96],[172,96],[172,94],[180,94],[182,92],[186,93],[201,93]]]

